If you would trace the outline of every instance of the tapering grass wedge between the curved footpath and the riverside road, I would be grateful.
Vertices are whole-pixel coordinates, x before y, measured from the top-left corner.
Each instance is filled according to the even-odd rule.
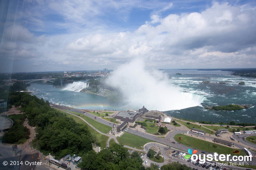
[[[99,131],[101,131],[102,133],[107,134],[112,128],[110,126],[106,126],[105,124],[101,124],[97,121],[95,121],[94,119],[89,118],[86,115],[80,114],[78,112],[73,112],[73,111],[68,111],[71,112],[75,115],[80,116],[81,118],[83,118],[84,120],[86,120],[88,123],[90,123],[93,127],[95,127],[96,129],[98,129]]]

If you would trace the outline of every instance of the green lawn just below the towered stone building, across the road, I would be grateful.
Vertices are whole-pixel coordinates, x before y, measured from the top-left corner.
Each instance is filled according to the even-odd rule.
[[[121,137],[117,137],[117,141],[123,145],[131,146],[136,149],[143,149],[143,146],[148,142],[154,142],[146,138],[139,137],[137,135],[124,133]]]

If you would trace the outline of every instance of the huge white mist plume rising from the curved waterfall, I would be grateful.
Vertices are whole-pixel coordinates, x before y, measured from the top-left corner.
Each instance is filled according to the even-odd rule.
[[[168,82],[168,76],[159,70],[146,70],[141,59],[120,65],[106,79],[106,84],[123,95],[125,107],[149,110],[180,110],[199,106],[205,99],[191,93],[181,92]]]

